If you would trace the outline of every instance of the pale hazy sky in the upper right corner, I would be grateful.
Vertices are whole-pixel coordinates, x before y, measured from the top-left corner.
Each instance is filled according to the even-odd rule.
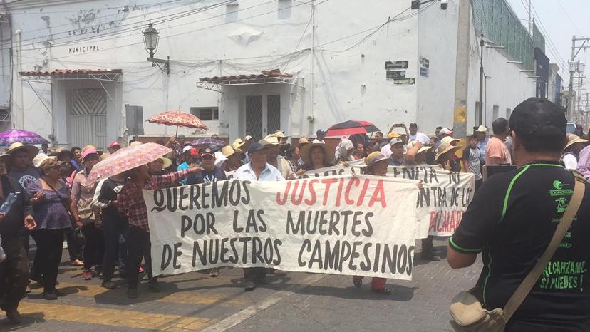
[[[527,26],[529,19],[529,0],[507,0],[514,12]],[[545,53],[549,61],[559,65],[559,73],[568,84],[567,62],[571,58],[571,36],[590,37],[589,0],[532,0],[532,16],[535,24],[545,36]],[[581,41],[578,42],[581,45]],[[576,60],[587,64],[586,75],[590,73],[590,49],[581,50]],[[589,81],[585,82],[590,88]]]

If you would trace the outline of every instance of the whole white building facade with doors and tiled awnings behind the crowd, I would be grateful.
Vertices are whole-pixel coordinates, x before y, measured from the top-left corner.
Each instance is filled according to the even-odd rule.
[[[475,11],[477,1],[472,3]],[[143,123],[143,135],[150,137],[175,133],[176,128],[145,123],[172,109],[194,113],[209,126],[204,133],[187,128],[179,133],[229,140],[247,134],[262,138],[277,129],[313,137],[317,129],[344,120],[368,120],[381,130],[411,122],[425,133],[438,125],[450,128],[458,0],[447,10],[437,1],[420,9],[409,5],[387,0],[14,1],[4,6],[9,23],[0,23],[0,125],[34,131],[58,146],[103,148],[134,134],[126,110],[137,110],[135,122]],[[470,24],[465,63],[468,133],[477,125],[477,17]],[[160,33],[155,58],[170,56],[169,76],[164,65],[154,67],[146,59],[142,31],[150,21]],[[486,41],[500,45],[502,38]],[[527,72],[532,68],[514,60],[500,48],[484,50],[485,125],[509,116],[535,93]],[[4,122],[1,105],[11,115]]]

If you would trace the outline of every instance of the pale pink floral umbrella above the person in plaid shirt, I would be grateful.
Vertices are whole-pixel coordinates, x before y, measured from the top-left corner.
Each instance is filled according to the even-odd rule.
[[[133,170],[133,168],[157,160],[171,151],[170,148],[156,143],[123,147],[92,167],[88,181],[97,182],[127,170]]]

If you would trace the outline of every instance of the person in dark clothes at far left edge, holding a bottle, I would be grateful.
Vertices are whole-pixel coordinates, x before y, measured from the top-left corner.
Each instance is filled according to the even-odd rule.
[[[6,254],[0,264],[0,309],[6,312],[9,321],[21,323],[17,309],[29,285],[29,259],[19,232],[23,227],[34,229],[36,222],[29,194],[16,179],[7,176],[6,161],[10,159],[11,155],[0,155],[0,204],[4,204],[11,194],[16,195],[8,212],[0,214],[1,246]]]

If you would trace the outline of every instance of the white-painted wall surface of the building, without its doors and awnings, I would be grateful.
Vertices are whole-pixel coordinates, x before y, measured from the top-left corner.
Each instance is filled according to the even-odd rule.
[[[266,2],[240,0],[237,6],[226,6],[220,0],[165,4],[152,0],[48,0],[38,1],[36,6],[16,3],[11,11],[13,29],[23,31],[22,70],[123,70],[123,83],[108,88],[113,89],[110,92],[117,105],[108,100],[113,107],[108,115],[108,140],[123,135],[125,104],[143,106],[144,120],[163,110],[219,105],[219,121],[209,122],[205,135],[227,135],[233,140],[246,134],[245,97],[277,92],[284,112],[281,129],[294,136],[314,136],[318,128],[343,120],[368,120],[382,130],[394,123],[418,122],[425,133],[433,133],[437,125],[452,125],[457,43],[457,6],[452,1],[447,11],[434,4],[418,15],[408,10],[400,16],[395,15],[407,9],[409,2],[319,1],[313,41],[309,4],[295,0]],[[192,14],[172,20],[181,12]],[[392,21],[378,29],[390,18]],[[145,60],[141,31],[148,19],[160,31],[155,57],[171,55],[169,77]],[[475,39],[473,43],[477,45]],[[312,44],[316,46],[313,57]],[[430,61],[428,78],[420,76],[421,57]],[[468,128],[474,123],[479,76],[477,53],[471,58]],[[416,83],[397,85],[386,79],[385,61],[408,61],[406,77],[415,78]],[[513,108],[529,95],[529,90],[534,92],[534,85],[518,73],[517,66],[507,65],[497,51],[486,51],[485,61],[489,68],[486,73],[492,76],[487,81],[489,124],[492,105],[499,105],[505,113],[505,108]],[[18,63],[16,59],[14,62]],[[273,68],[293,74],[303,87],[240,86],[217,93],[195,86],[202,77],[260,73]],[[36,88],[53,108],[60,143],[68,141],[68,134],[61,133],[67,126],[65,91],[77,84],[53,84],[53,94],[51,89]],[[15,81],[15,85],[14,93],[19,93],[21,82]],[[507,89],[507,85],[512,88]],[[47,137],[51,117],[33,90],[26,83],[22,86],[24,127]],[[308,121],[308,116],[314,120]],[[175,131],[150,123],[144,128],[148,136]],[[179,133],[195,135],[194,130],[182,128]]]

